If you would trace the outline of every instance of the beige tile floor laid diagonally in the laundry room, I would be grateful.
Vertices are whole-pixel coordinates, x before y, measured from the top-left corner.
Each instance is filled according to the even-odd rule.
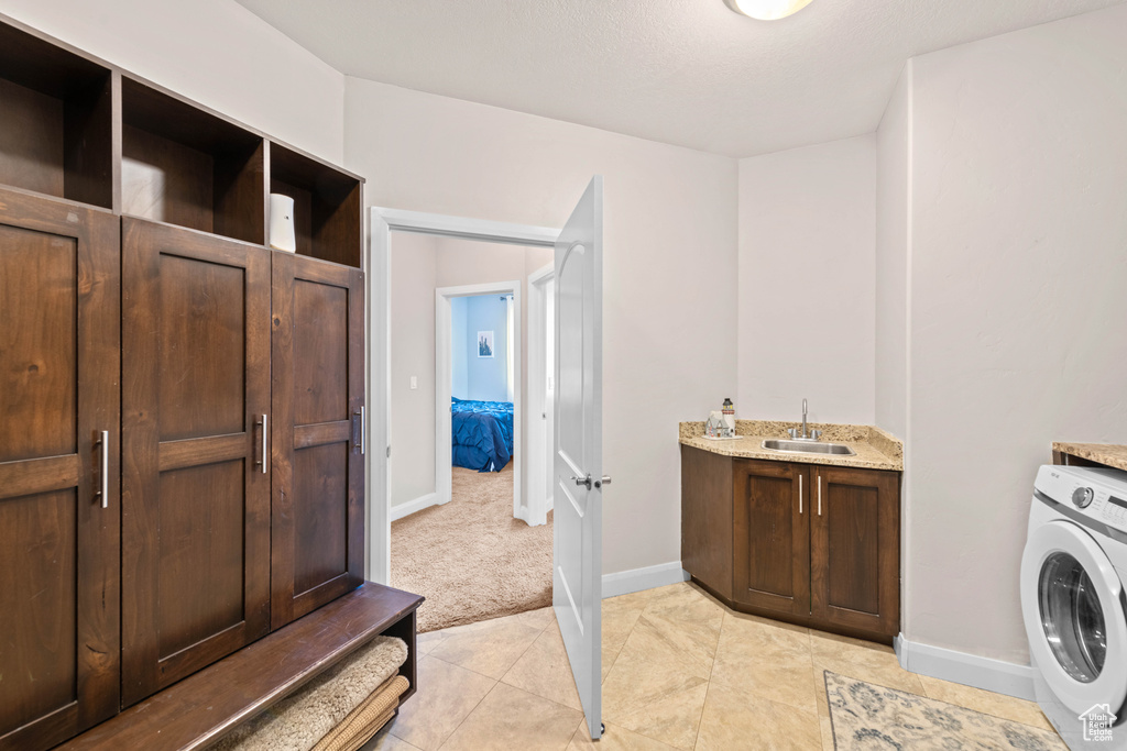
[[[900,669],[890,647],[734,613],[693,584],[603,601],[586,732],[551,608],[419,636],[419,692],[366,749],[833,749],[823,671],[1050,728],[1036,704]]]

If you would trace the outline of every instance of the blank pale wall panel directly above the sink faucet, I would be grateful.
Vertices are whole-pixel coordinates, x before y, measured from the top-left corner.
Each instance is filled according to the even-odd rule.
[[[873,422],[875,227],[872,135],[739,161],[740,417]]]

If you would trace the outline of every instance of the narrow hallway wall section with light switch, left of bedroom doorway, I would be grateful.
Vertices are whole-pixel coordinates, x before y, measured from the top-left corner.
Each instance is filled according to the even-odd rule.
[[[391,503],[434,492],[434,235],[391,240]],[[410,378],[418,378],[418,388]]]

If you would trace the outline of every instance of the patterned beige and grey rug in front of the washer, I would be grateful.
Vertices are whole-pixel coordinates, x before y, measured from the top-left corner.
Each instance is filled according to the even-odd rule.
[[[825,671],[836,751],[1067,751],[1056,733]]]

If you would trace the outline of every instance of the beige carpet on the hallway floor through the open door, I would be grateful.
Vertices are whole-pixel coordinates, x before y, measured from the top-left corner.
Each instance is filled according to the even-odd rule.
[[[513,463],[502,472],[453,467],[450,503],[391,525],[391,585],[426,597],[419,633],[552,602],[552,515],[513,518]]]

